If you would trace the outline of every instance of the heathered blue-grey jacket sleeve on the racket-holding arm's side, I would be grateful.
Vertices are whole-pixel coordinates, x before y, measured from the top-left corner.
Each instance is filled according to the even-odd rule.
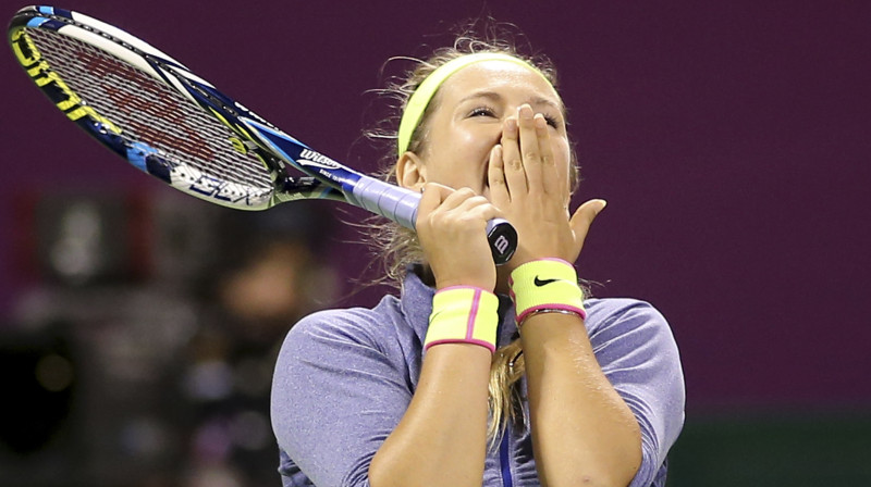
[[[272,427],[284,460],[315,485],[368,486],[372,458],[412,400],[395,327],[380,321],[371,310],[316,313],[282,346]]]

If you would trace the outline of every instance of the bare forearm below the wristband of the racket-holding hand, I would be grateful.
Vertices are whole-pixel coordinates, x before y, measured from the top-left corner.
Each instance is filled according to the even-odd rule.
[[[372,487],[481,485],[490,359],[468,344],[427,352],[408,410],[369,467]]]

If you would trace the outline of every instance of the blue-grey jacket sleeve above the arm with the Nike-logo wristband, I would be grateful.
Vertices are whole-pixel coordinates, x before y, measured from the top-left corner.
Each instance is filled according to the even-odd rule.
[[[686,400],[668,323],[649,303],[631,299],[596,300],[588,312],[599,365],[641,429],[642,461],[630,487],[662,483],[666,455],[684,425]]]

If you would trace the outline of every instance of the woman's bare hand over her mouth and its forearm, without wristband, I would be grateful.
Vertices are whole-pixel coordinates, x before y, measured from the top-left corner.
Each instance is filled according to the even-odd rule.
[[[508,271],[542,259],[561,259],[571,267],[604,201],[589,201],[569,218],[568,175],[555,163],[564,159],[564,126],[548,124],[525,104],[503,123],[501,141],[491,154],[489,179],[494,203],[518,230],[520,248]],[[541,313],[522,325],[542,485],[628,485],[641,460],[638,423],[602,373],[582,316]]]

